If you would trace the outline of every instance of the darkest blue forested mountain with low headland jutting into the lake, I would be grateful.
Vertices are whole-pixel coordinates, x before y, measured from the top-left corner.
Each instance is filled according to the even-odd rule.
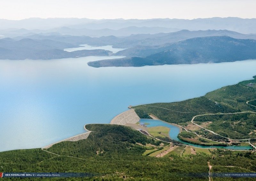
[[[92,67],[140,67],[145,65],[235,62],[256,59],[256,40],[228,36],[192,38],[160,47],[146,57],[89,62]],[[144,51],[150,51],[145,49]]]

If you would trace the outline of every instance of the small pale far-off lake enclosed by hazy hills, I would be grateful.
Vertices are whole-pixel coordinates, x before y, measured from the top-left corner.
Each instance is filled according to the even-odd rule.
[[[95,50],[95,49],[103,49],[103,50],[109,50],[113,53],[119,52],[121,50],[125,50],[126,48],[113,48],[111,45],[107,46],[91,46],[91,45],[80,45],[81,47],[76,47],[76,48],[65,48],[64,51],[67,52],[73,52],[77,50]]]

